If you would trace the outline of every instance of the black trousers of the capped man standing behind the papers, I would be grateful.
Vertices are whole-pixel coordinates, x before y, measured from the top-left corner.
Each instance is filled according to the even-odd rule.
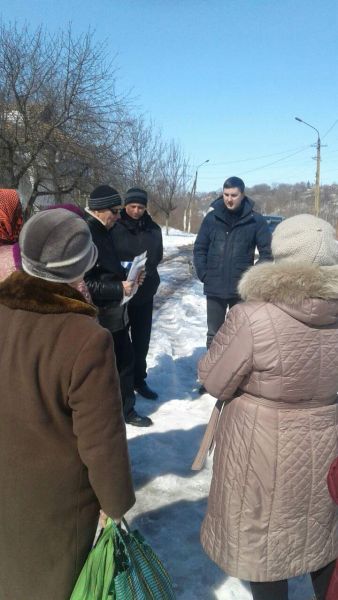
[[[128,305],[131,343],[134,351],[134,385],[147,377],[147,354],[153,322],[153,298],[140,306]]]

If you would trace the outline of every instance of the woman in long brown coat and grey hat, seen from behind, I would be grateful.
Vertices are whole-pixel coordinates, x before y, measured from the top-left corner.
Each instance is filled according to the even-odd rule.
[[[75,214],[41,211],[0,283],[0,598],[66,600],[99,509],[135,498],[109,332],[70,284],[97,258]]]

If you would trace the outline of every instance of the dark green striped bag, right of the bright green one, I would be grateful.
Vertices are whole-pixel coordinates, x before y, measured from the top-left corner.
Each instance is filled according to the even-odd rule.
[[[115,574],[112,581],[114,600],[175,600],[169,574],[158,556],[136,530],[115,530]]]

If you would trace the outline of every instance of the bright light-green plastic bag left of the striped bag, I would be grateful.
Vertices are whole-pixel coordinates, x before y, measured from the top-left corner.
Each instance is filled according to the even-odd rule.
[[[115,600],[110,591],[115,571],[115,524],[108,519],[75,584],[70,600]]]

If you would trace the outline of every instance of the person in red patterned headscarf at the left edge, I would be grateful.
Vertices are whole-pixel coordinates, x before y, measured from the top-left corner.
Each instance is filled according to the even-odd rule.
[[[21,266],[17,241],[22,225],[18,193],[16,190],[0,189],[0,281]]]

